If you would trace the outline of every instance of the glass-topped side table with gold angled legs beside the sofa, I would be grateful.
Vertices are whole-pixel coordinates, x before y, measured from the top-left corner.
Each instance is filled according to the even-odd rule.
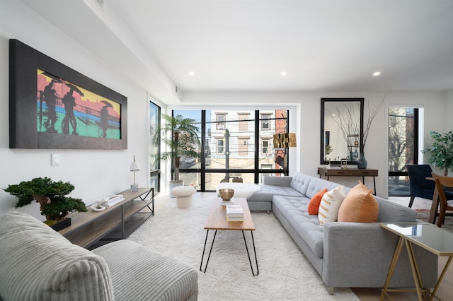
[[[404,246],[406,246],[409,254],[409,261],[411,262],[413,278],[415,281],[415,289],[413,291],[417,292],[418,300],[425,300],[425,293],[427,293],[427,290],[425,290],[422,285],[417,260],[413,252],[413,244],[416,244],[423,249],[427,249],[429,252],[437,254],[437,256],[449,256],[447,263],[442,269],[442,273],[437,279],[435,288],[432,290],[432,293],[428,291],[428,293],[431,294],[430,300],[432,300],[432,298],[435,297],[435,293],[437,292],[437,289],[442,282],[442,278],[444,278],[445,272],[447,271],[447,268],[453,258],[453,232],[438,228],[436,225],[432,225],[430,223],[381,223],[380,225],[382,228],[399,236],[398,244],[396,244],[394,256],[391,259],[389,273],[387,273],[380,300],[384,300],[387,292],[401,291],[397,289],[389,290],[389,283],[391,276],[394,273],[396,262],[398,261],[401,250]]]

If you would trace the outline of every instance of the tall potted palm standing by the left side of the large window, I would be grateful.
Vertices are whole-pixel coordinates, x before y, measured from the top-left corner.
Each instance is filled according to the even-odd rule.
[[[164,124],[159,125],[158,129],[151,138],[154,146],[163,143],[167,146],[166,151],[161,151],[154,155],[154,160],[171,160],[175,170],[175,176],[170,182],[171,187],[183,185],[179,179],[180,160],[183,156],[197,158],[199,145],[198,128],[195,126],[195,120],[185,118],[181,115],[170,116],[162,114]],[[171,133],[171,135],[168,135]],[[171,196],[171,194],[170,194]]]

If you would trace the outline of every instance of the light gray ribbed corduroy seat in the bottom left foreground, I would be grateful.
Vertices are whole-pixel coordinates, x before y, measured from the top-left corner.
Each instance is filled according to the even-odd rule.
[[[0,300],[197,300],[198,273],[119,240],[93,251],[25,213],[0,217]]]

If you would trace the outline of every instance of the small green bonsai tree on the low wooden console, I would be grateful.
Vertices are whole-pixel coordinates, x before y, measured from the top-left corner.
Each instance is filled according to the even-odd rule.
[[[74,190],[69,182],[54,182],[49,177],[37,177],[31,181],[8,185],[4,191],[19,199],[16,208],[30,204],[33,200],[40,203],[40,211],[47,225],[59,223],[69,211],[86,212],[81,199],[66,196]]]

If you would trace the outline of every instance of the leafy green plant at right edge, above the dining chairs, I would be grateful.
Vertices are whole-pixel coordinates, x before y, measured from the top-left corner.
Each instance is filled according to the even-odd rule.
[[[453,132],[440,134],[437,131],[430,131],[434,143],[430,148],[425,148],[423,153],[430,153],[428,162],[433,166],[444,170],[444,175],[448,175],[448,170],[453,170]]]

